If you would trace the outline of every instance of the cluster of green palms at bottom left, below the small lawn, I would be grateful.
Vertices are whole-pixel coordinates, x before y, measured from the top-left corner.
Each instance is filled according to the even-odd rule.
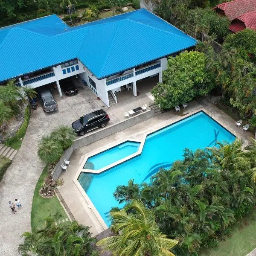
[[[18,250],[22,255],[41,256],[84,256],[94,255],[91,243],[96,239],[91,237],[89,227],[79,225],[76,221],[55,224],[61,221],[63,216],[56,212],[47,216],[43,227],[25,232],[23,244]],[[29,254],[28,254],[29,253]]]

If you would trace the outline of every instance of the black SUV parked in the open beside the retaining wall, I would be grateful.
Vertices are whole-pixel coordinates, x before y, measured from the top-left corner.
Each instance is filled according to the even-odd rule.
[[[109,122],[108,114],[100,109],[85,116],[81,116],[78,120],[72,123],[73,131],[80,136],[83,136],[87,131],[96,127],[105,127]]]

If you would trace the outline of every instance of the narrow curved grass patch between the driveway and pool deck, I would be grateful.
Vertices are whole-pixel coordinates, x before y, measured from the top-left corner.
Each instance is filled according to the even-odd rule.
[[[47,167],[45,167],[35,187],[31,210],[32,229],[43,227],[44,218],[46,218],[50,214],[55,214],[55,212],[60,212],[63,215],[64,219],[67,218],[67,214],[61,206],[60,202],[58,201],[56,195],[53,198],[42,198],[41,195],[39,195],[39,190],[44,183],[44,178],[47,175]]]

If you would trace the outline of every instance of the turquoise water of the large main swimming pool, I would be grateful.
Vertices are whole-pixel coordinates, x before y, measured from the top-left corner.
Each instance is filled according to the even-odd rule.
[[[199,112],[147,136],[142,153],[99,175],[81,173],[79,182],[107,225],[111,207],[122,207],[113,197],[118,185],[149,182],[160,168],[169,168],[181,159],[184,148],[195,150],[232,142],[235,136],[204,112]],[[108,155],[108,151],[104,154]]]

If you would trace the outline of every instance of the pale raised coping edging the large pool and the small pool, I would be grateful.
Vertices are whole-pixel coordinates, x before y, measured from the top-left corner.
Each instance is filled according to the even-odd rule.
[[[223,125],[221,125],[220,122],[218,122],[217,120],[215,120],[212,116],[209,116],[209,114],[207,114],[204,110],[201,109],[201,110],[195,111],[194,113],[193,113],[193,112],[192,112],[192,113],[188,113],[188,115],[187,115],[187,116],[184,116],[184,118],[181,118],[181,119],[179,119],[179,120],[177,120],[177,121],[175,121],[175,122],[172,122],[172,123],[169,124],[169,125],[164,125],[163,127],[158,128],[158,129],[156,129],[156,130],[154,130],[154,131],[145,132],[145,133],[143,134],[143,138],[142,138],[141,140],[134,140],[134,139],[130,139],[130,138],[125,138],[125,139],[122,139],[122,140],[118,140],[118,141],[116,141],[116,142],[114,142],[114,143],[111,143],[111,144],[105,145],[105,146],[103,146],[103,147],[101,147],[101,148],[98,148],[98,149],[92,151],[90,154],[87,154],[87,155],[84,157],[84,160],[83,160],[82,163],[80,164],[79,169],[78,169],[78,171],[76,172],[76,175],[75,175],[74,178],[73,178],[73,182],[76,184],[77,188],[78,188],[79,191],[81,192],[81,195],[84,197],[85,201],[87,202],[88,208],[90,208],[90,209],[92,210],[93,214],[95,215],[95,217],[97,218],[97,220],[99,221],[99,223],[101,224],[101,226],[102,226],[102,228],[103,228],[104,230],[108,229],[107,224],[105,223],[105,221],[103,220],[102,216],[99,214],[98,210],[96,209],[96,207],[94,206],[94,204],[93,204],[92,201],[90,200],[89,196],[88,196],[87,193],[84,191],[84,189],[82,188],[81,184],[80,184],[79,181],[78,181],[78,178],[79,178],[79,175],[81,174],[81,172],[88,173],[88,174],[97,174],[97,175],[99,175],[99,174],[101,174],[101,173],[103,173],[103,172],[108,171],[108,169],[111,169],[111,168],[113,168],[114,166],[118,166],[118,165],[121,164],[121,163],[124,163],[124,162],[126,162],[126,161],[128,161],[128,160],[130,160],[130,159],[132,159],[132,158],[134,158],[134,157],[139,156],[139,155],[142,153],[142,150],[143,150],[143,147],[144,147],[144,144],[145,144],[145,140],[146,140],[146,137],[147,137],[148,135],[151,135],[151,134],[154,134],[154,133],[156,133],[156,132],[158,132],[158,131],[161,131],[161,130],[163,130],[163,129],[165,129],[165,128],[171,126],[171,125],[175,125],[176,123],[178,123],[178,122],[180,122],[180,121],[183,121],[183,120],[185,120],[185,119],[187,119],[187,118],[189,118],[189,117],[191,117],[191,116],[194,116],[194,115],[196,115],[196,114],[198,114],[198,113],[200,113],[200,112],[206,114],[206,115],[207,115],[208,117],[210,117],[214,122],[216,122],[218,125],[220,125],[222,128],[224,128],[226,131],[228,131],[228,132],[229,132],[230,134],[232,134],[234,137],[237,137],[235,134],[233,134],[233,132],[229,131],[227,128],[225,128]],[[89,157],[92,157],[92,156],[94,156],[94,155],[96,155],[96,154],[100,154],[101,152],[106,151],[106,150],[108,150],[108,149],[110,149],[110,148],[113,148],[113,147],[115,147],[116,145],[125,143],[126,141],[131,141],[131,142],[140,143],[140,147],[139,147],[138,151],[135,152],[134,154],[129,155],[128,157],[124,157],[124,158],[122,158],[122,159],[120,159],[120,160],[118,160],[118,161],[116,161],[116,162],[114,162],[114,163],[111,163],[110,165],[105,166],[105,167],[103,167],[102,169],[99,169],[99,170],[91,170],[91,169],[84,169],[84,168],[83,168],[84,164],[86,163],[86,161],[87,161],[87,159],[88,159]],[[92,171],[93,171],[93,172],[92,172]]]

